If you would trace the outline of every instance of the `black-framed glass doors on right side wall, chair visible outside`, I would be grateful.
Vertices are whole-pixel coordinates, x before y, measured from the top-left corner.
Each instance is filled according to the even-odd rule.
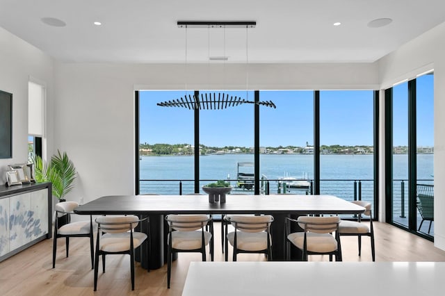
[[[387,187],[391,188],[387,191],[390,201],[387,220],[431,239],[434,233],[433,79],[430,72],[385,90],[389,135],[386,141],[391,149],[386,170]]]

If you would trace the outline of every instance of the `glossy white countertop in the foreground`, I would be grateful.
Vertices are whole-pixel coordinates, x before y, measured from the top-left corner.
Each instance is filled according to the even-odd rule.
[[[182,295],[445,295],[445,262],[192,262]]]

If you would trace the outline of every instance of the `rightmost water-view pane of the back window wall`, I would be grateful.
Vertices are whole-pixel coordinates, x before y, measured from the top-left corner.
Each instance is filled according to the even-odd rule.
[[[374,92],[320,91],[320,192],[374,205]]]

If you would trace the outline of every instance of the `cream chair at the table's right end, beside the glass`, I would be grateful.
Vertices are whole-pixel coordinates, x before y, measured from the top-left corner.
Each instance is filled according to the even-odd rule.
[[[362,236],[369,236],[371,238],[371,255],[375,261],[375,247],[374,247],[374,229],[373,219],[371,214],[371,203],[361,200],[353,201],[353,204],[358,204],[365,208],[364,215],[369,216],[369,226],[362,222],[362,215],[357,215],[357,221],[341,220],[339,224],[340,236],[358,236],[359,242],[359,256],[362,255]]]

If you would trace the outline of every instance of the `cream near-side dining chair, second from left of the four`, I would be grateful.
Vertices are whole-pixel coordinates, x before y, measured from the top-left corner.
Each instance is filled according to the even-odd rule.
[[[200,252],[202,261],[207,261],[206,246],[210,247],[213,261],[213,223],[208,215],[167,215],[168,223],[168,268],[167,287],[170,288],[173,252]],[[210,231],[205,227],[209,224]]]

